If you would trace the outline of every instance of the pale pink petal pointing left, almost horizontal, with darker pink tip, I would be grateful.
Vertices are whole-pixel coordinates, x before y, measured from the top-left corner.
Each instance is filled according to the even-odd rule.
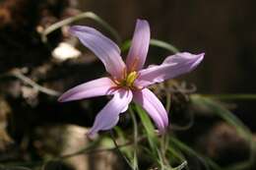
[[[100,78],[82,85],[77,85],[69,89],[59,97],[58,101],[65,102],[111,94],[111,89],[114,86],[115,84],[112,82],[111,79]]]

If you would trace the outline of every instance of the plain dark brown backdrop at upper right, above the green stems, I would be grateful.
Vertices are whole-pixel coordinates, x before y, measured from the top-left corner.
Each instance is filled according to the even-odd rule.
[[[206,52],[187,78],[206,93],[255,92],[256,2],[253,0],[87,0],[93,11],[131,38],[137,18],[149,21],[152,36],[181,51]],[[167,54],[166,54],[167,55]],[[165,56],[150,58],[163,59]]]

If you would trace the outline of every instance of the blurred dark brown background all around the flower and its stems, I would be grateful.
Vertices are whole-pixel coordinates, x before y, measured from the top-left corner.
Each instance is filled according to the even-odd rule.
[[[153,38],[180,51],[206,53],[203,63],[178,82],[196,86],[194,92],[200,94],[253,94],[256,93],[255,7],[253,0],[0,0],[0,162],[3,166],[13,162],[27,166],[26,162],[32,162],[27,167],[34,168],[33,163],[45,157],[74,152],[76,146],[88,143],[85,127],[92,126],[96,112],[107,101],[99,97],[57,102],[61,92],[100,77],[104,69],[92,52],[69,36],[68,26],[50,32],[47,41],[43,40],[41,34],[52,24],[90,11],[115,28],[124,42],[132,37],[136,19],[146,19]],[[114,39],[94,20],[80,20],[76,24],[95,27]],[[151,47],[147,62],[160,63],[170,54]],[[184,107],[189,107],[189,101],[173,102],[177,105],[172,107],[173,114],[183,113]],[[255,138],[254,105],[254,99],[225,101],[225,106]],[[195,126],[177,135],[220,164],[246,159],[248,145],[236,137],[232,128],[201,112],[195,112]],[[175,119],[174,114],[174,123],[179,118]],[[129,117],[121,121],[121,127],[129,129],[125,120]],[[81,167],[75,168],[79,170],[114,169],[113,160],[120,157],[114,153],[106,155],[94,154],[86,158],[86,163],[81,163],[85,157],[74,158],[69,163],[74,166],[74,162],[80,162]],[[97,167],[94,156],[101,156],[109,167]],[[192,162],[191,169],[199,169]],[[54,169],[54,166],[53,162],[44,168]]]

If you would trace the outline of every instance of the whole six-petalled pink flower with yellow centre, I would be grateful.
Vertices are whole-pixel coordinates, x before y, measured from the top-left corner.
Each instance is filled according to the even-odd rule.
[[[127,110],[132,100],[148,112],[160,133],[164,132],[168,126],[167,113],[158,97],[147,87],[190,72],[203,60],[204,53],[177,53],[168,56],[160,65],[143,69],[151,34],[147,21],[137,21],[126,64],[120,56],[119,47],[95,28],[74,26],[70,28],[70,32],[96,54],[109,77],[75,86],[62,94],[59,101],[113,95],[96,115],[89,137],[94,137],[98,131],[113,128],[120,113]]]

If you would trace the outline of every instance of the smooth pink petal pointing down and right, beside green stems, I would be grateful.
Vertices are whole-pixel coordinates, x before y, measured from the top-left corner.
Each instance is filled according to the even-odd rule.
[[[159,98],[148,88],[134,91],[133,100],[140,104],[151,116],[160,133],[168,126],[168,116]]]

